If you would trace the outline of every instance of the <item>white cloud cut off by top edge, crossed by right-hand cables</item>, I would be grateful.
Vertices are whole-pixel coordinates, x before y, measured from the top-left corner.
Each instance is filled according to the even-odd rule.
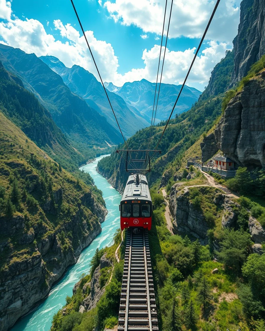
[[[207,33],[207,38],[231,43],[237,34],[240,0],[221,1]],[[178,0],[174,1],[170,23],[170,38],[184,35],[189,38],[201,37],[208,23],[215,1]],[[166,22],[169,17],[169,6]],[[143,32],[161,35],[165,0],[115,0],[106,1],[104,7],[115,22],[136,25]],[[164,31],[165,33],[165,31]]]

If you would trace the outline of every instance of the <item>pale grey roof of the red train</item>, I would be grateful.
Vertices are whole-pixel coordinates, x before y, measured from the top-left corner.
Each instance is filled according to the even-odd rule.
[[[123,192],[122,200],[138,199],[151,201],[151,195],[148,188],[147,179],[143,175],[139,175],[140,183],[135,183],[136,175],[130,175]]]

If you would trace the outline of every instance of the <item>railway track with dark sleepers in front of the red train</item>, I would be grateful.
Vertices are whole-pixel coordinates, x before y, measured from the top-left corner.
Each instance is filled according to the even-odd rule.
[[[158,331],[146,229],[128,229],[118,331]]]

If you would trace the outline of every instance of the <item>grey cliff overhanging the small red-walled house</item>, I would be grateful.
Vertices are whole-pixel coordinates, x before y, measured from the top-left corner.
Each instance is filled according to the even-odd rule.
[[[265,71],[229,102],[214,135],[204,138],[202,160],[221,150],[240,166],[265,167]]]

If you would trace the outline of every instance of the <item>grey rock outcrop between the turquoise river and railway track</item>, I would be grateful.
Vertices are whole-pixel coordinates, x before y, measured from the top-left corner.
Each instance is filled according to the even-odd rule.
[[[104,254],[100,259],[100,265],[96,267],[93,273],[90,282],[91,292],[83,300],[81,306],[79,307],[79,311],[82,310],[81,312],[83,312],[84,310],[87,311],[96,307],[97,302],[105,292],[105,286],[100,288],[100,281],[99,281],[100,270],[105,267],[110,267],[110,266],[112,267],[112,265],[113,265],[112,262],[109,259],[107,259],[106,254]]]

